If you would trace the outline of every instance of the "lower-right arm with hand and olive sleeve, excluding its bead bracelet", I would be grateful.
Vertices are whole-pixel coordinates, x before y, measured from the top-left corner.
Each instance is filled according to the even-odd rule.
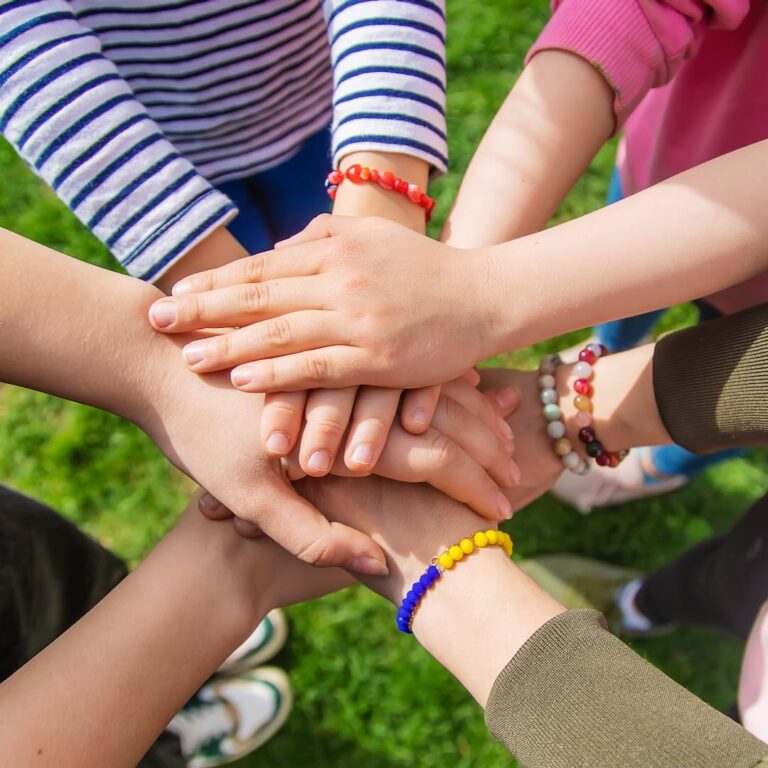
[[[466,508],[423,486],[334,478],[303,492],[333,519],[381,543],[389,574],[364,582],[394,605],[433,556],[484,528]],[[419,509],[430,514],[413,514]],[[393,632],[394,615],[393,608]],[[671,761],[746,768],[768,752],[610,635],[596,616],[565,612],[498,548],[473,553],[446,573],[417,609],[412,628],[419,643],[488,706],[494,735],[525,765],[646,768]],[[551,652],[558,656],[555,670]]]

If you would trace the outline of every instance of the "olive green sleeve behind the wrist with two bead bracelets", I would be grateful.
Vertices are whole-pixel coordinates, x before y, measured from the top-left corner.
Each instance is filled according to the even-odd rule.
[[[664,426],[684,448],[768,445],[768,304],[660,339],[653,388]]]

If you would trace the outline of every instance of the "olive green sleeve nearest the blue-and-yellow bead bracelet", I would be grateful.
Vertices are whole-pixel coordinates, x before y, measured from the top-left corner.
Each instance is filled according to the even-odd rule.
[[[672,681],[595,611],[566,611],[491,690],[491,733],[524,768],[754,768],[768,745]]]

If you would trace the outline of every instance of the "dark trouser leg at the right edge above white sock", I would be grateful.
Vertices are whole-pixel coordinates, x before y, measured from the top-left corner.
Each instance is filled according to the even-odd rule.
[[[746,639],[768,597],[768,495],[726,534],[645,577],[635,605],[655,625],[701,624]]]

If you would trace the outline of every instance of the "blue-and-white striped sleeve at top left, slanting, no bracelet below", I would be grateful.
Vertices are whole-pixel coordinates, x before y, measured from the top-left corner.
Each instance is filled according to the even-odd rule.
[[[236,214],[68,3],[0,3],[0,30],[0,131],[129,273],[158,278]]]

